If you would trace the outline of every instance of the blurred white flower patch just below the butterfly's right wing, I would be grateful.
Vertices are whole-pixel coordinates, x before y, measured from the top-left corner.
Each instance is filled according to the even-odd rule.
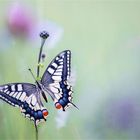
[[[56,121],[56,127],[58,129],[66,126],[66,123],[68,121],[68,117],[69,117],[69,112],[68,110],[67,111],[62,111],[62,110],[58,110],[57,111],[57,117],[55,118],[55,121]]]

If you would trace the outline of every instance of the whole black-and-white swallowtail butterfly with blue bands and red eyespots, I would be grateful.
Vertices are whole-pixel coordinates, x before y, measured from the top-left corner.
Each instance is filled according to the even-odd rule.
[[[71,51],[65,50],[52,60],[41,80],[36,80],[35,84],[0,85],[0,98],[14,107],[20,107],[21,113],[33,120],[35,125],[46,121],[48,110],[41,101],[43,96],[47,102],[46,92],[51,96],[57,109],[65,111],[67,107],[74,105],[71,96],[72,86],[68,82],[71,73],[70,63]]]

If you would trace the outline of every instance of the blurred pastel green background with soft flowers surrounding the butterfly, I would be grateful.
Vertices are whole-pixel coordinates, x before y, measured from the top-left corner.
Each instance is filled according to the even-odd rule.
[[[39,140],[140,139],[140,1],[0,0],[0,17],[1,84],[34,82],[42,27],[51,37],[45,67],[72,51],[79,110],[63,114],[49,98]],[[3,101],[0,139],[35,139],[33,123]]]

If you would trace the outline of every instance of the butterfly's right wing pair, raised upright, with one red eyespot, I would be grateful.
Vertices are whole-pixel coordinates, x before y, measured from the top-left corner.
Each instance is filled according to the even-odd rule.
[[[72,104],[72,86],[68,83],[70,67],[71,52],[66,50],[53,59],[41,79],[41,84],[54,100],[56,108],[62,107],[63,110]]]

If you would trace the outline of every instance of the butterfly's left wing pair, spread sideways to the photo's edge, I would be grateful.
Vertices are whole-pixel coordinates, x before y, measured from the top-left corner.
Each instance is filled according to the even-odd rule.
[[[21,113],[35,123],[45,120],[47,110],[40,100],[38,88],[29,83],[12,83],[0,86],[0,98],[12,106],[21,108]]]

